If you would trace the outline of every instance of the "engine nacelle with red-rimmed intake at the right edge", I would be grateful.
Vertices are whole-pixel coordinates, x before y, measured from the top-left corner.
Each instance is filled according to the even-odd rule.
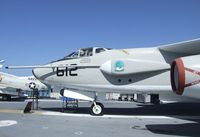
[[[200,55],[178,58],[173,61],[171,85],[178,95],[200,98]]]

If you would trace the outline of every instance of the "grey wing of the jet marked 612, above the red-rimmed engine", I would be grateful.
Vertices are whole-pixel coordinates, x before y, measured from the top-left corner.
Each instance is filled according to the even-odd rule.
[[[179,54],[180,57],[196,55],[200,54],[200,38],[164,45],[158,48],[161,52],[164,51],[164,52]]]

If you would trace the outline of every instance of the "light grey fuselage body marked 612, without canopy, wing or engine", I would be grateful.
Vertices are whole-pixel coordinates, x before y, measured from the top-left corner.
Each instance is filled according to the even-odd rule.
[[[129,73],[119,75],[105,73],[100,68],[109,60],[132,62],[128,66]],[[140,62],[138,66],[137,62]],[[161,68],[163,65],[167,67],[159,69],[159,65]],[[98,54],[93,51],[92,56],[63,59],[46,66],[61,67],[36,68],[33,69],[34,75],[46,84],[62,88],[120,93],[160,93],[172,90],[170,65],[158,48],[106,50]],[[154,66],[155,69],[152,70]]]

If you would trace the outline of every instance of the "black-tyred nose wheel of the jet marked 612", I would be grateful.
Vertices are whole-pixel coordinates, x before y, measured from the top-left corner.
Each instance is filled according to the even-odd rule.
[[[96,102],[95,104],[92,104],[91,106],[91,115],[94,116],[102,116],[104,111],[104,106],[101,103]]]

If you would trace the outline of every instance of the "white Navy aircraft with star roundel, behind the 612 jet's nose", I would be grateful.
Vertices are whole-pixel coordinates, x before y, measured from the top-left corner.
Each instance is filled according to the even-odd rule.
[[[0,63],[3,62],[3,60],[0,61]],[[10,101],[11,96],[26,98],[27,95],[24,94],[24,91],[32,91],[36,88],[38,90],[48,90],[48,87],[34,76],[18,77],[0,72],[0,96],[2,96],[2,100],[4,101]]]

